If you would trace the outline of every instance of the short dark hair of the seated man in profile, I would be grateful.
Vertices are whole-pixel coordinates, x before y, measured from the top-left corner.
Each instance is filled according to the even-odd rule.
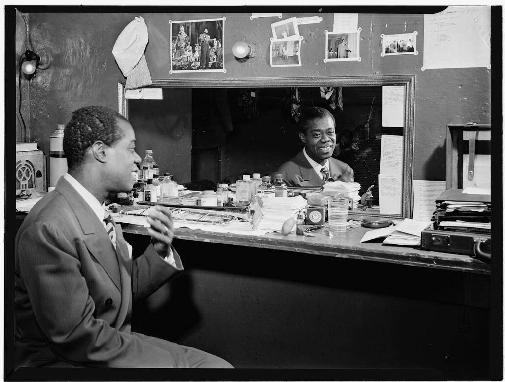
[[[63,151],[69,169],[79,168],[86,150],[96,141],[113,146],[124,133],[118,120],[127,121],[121,114],[104,106],[86,106],[72,113],[70,122],[65,125]]]

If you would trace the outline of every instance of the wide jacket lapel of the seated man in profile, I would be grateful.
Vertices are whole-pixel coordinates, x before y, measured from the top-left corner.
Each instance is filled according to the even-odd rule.
[[[89,204],[64,178],[58,181],[55,191],[60,192],[72,206],[72,211],[81,225],[83,241],[86,247],[93,257],[104,267],[116,287],[121,290],[121,276],[117,254],[102,222],[98,220]]]

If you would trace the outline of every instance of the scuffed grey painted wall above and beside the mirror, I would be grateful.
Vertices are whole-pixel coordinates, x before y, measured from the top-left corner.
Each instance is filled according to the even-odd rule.
[[[283,13],[289,17],[309,17],[315,14]],[[124,79],[119,70],[112,46],[123,28],[137,14],[129,13],[30,13],[31,41],[35,48],[46,47],[53,52],[54,61],[47,70],[38,71],[29,86],[29,107],[22,112],[30,126],[29,138],[40,143],[48,153],[48,137],[59,123],[66,123],[71,112],[86,104],[102,104],[117,108],[117,81]],[[223,73],[178,73],[179,78],[255,78],[255,77],[339,77],[386,76],[407,74],[416,76],[414,179],[445,179],[445,125],[490,122],[490,70],[486,68],[428,69],[423,65],[423,15],[359,14],[361,61],[324,63],[324,30],[333,27],[333,14],[318,14],[317,24],[299,25],[304,36],[301,43],[300,67],[272,68],[269,64],[269,43],[272,22],[277,18],[250,20],[249,14],[141,14],[149,31],[146,60],[153,79],[166,79],[169,74],[169,20],[198,20],[226,17],[224,23]],[[22,20],[17,16],[17,30]],[[381,34],[417,31],[418,55],[381,57]],[[16,39],[19,40],[20,33]],[[235,60],[231,47],[237,40],[255,38],[261,44],[261,57],[254,63]],[[17,44],[21,45],[21,43]],[[18,57],[23,49],[17,51]],[[26,95],[26,92],[25,92]],[[18,121],[17,139],[23,139]],[[159,148],[149,141],[148,133],[138,142],[140,152],[145,148]],[[188,135],[186,135],[188,136]],[[155,135],[156,139],[159,138]],[[145,138],[145,140],[144,140]],[[172,142],[173,144],[174,142]],[[155,147],[150,147],[150,146]],[[183,146],[190,145],[185,141]],[[186,159],[184,157],[184,159]],[[171,158],[161,153],[159,160],[172,164]],[[190,160],[186,161],[189,163]],[[175,164],[175,163],[174,163]],[[179,163],[184,166],[184,161]]]

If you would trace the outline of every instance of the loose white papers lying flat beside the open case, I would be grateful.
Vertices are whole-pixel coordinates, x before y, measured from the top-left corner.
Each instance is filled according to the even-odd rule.
[[[430,221],[405,219],[397,226],[371,229],[360,240],[364,241],[385,237],[384,244],[419,246],[421,245],[421,232],[431,225]]]

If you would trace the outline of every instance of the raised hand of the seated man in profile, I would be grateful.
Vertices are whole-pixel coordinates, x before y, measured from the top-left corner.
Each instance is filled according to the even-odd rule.
[[[153,246],[162,257],[167,256],[174,238],[174,222],[168,208],[156,205],[154,211],[147,216],[147,223],[151,226],[147,232],[153,238]]]

